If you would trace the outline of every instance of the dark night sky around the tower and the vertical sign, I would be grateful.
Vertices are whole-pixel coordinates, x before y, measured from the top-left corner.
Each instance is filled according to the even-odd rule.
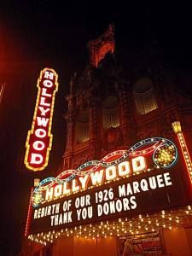
[[[117,52],[143,49],[156,42],[170,67],[184,72],[192,70],[189,6],[176,2],[169,5],[160,1],[132,2],[126,5],[112,1],[105,5],[96,1],[71,5],[43,0],[0,3],[0,82],[6,82],[0,103],[3,199],[0,255],[15,255],[20,251],[33,177],[46,177],[61,166],[65,145],[63,114],[67,110],[64,96],[70,76],[76,71],[81,73],[89,63],[86,44],[90,39],[101,35],[113,23]],[[32,125],[36,83],[44,67],[52,67],[59,74],[52,127],[54,142],[48,168],[33,173],[25,169],[22,160],[26,134]]]

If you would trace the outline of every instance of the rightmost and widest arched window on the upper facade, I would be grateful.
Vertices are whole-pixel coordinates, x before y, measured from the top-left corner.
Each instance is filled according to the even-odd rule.
[[[138,114],[149,113],[158,108],[153,83],[150,79],[139,79],[134,85],[133,93]]]

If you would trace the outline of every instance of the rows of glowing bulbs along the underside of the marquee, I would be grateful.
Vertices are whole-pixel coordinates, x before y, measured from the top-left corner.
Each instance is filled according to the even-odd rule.
[[[136,218],[119,218],[115,221],[105,221],[98,224],[80,225],[71,229],[66,228],[59,231],[51,230],[31,234],[28,236],[28,239],[47,245],[60,237],[74,236],[84,239],[96,239],[110,236],[137,235],[162,229],[172,230],[172,228],[178,228],[183,224],[191,224],[191,222],[192,210],[191,206],[188,206],[174,211],[163,210],[154,214],[140,214]]]

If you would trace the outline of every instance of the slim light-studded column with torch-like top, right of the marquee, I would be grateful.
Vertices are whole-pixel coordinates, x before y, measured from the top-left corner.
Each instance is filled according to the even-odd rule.
[[[189,178],[190,178],[190,181],[192,183],[192,163],[191,163],[191,159],[190,159],[187,144],[186,144],[185,139],[183,137],[181,123],[179,121],[173,122],[172,123],[172,129],[177,134],[177,139],[178,139],[180,148],[181,148],[182,153],[183,153],[183,160],[185,162],[185,166],[187,167],[187,171],[189,173]]]

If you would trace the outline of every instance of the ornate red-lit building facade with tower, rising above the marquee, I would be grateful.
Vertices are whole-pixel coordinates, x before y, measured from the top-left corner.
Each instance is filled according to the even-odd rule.
[[[176,74],[155,60],[155,54],[145,52],[136,61],[139,67],[123,70],[115,57],[113,26],[88,48],[90,66],[79,77],[74,73],[66,96],[63,169],[102,159],[146,137],[172,138],[177,119],[191,140],[191,100],[179,94]]]

